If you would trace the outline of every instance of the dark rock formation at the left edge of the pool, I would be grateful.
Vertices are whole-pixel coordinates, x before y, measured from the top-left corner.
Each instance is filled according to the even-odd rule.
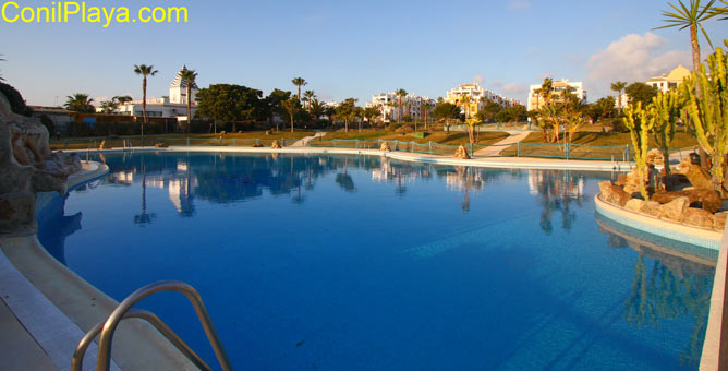
[[[35,234],[36,193],[64,194],[68,176],[78,170],[77,156],[51,152],[46,127],[14,113],[0,94],[0,235]]]

